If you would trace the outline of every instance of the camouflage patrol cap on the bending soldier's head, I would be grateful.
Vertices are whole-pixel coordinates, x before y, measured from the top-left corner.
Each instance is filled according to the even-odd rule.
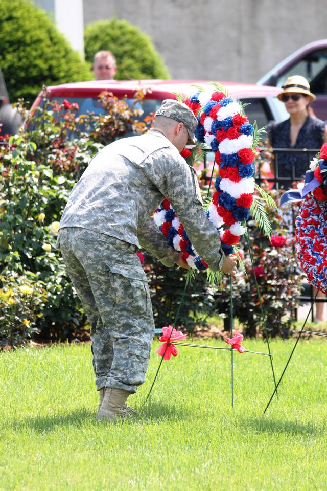
[[[166,118],[172,118],[178,123],[183,123],[189,133],[187,145],[195,145],[197,143],[194,131],[197,127],[198,120],[194,116],[192,109],[183,102],[175,101],[174,99],[165,99],[156,111],[155,116],[166,116]]]

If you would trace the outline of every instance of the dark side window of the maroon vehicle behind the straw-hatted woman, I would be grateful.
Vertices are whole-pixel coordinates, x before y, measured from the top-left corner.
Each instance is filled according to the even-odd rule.
[[[309,53],[277,78],[276,86],[282,87],[291,75],[305,77],[314,94],[327,94],[327,49]]]

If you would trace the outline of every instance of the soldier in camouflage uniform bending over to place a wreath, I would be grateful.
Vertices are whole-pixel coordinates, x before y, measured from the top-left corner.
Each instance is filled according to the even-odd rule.
[[[69,196],[58,244],[90,322],[100,392],[98,419],[128,415],[127,397],[145,381],[154,321],[147,277],[135,252],[143,247],[166,266],[188,267],[151,215],[167,198],[198,254],[213,271],[235,272],[203,208],[194,169],[179,152],[194,143],[197,120],[171,99],[154,129],[104,147]]]

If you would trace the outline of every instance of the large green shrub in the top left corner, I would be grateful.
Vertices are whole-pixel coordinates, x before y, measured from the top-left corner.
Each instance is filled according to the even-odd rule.
[[[12,102],[33,102],[43,84],[92,79],[87,63],[29,0],[0,2],[0,68]]]

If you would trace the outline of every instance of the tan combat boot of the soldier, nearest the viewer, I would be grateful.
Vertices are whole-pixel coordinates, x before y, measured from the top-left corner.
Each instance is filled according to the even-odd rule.
[[[120,418],[131,416],[134,411],[126,405],[126,400],[129,395],[131,395],[131,392],[128,392],[127,390],[106,387],[102,404],[97,414],[97,419],[116,421]]]

